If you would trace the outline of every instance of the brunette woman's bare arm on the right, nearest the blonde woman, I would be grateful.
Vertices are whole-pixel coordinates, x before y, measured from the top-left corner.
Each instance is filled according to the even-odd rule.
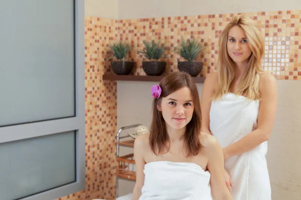
[[[205,134],[205,133],[204,133]],[[232,200],[224,178],[223,150],[216,137],[204,136],[204,150],[208,157],[207,169],[211,174],[211,195],[214,200]]]

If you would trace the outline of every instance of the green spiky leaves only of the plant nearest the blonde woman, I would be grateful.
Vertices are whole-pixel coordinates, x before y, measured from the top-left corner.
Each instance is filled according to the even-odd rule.
[[[182,38],[182,42],[180,44],[180,48],[176,49],[176,52],[178,52],[184,59],[188,61],[194,61],[197,57],[197,55],[205,48],[205,46],[202,46],[201,43],[196,42],[195,38],[193,39],[187,39],[184,40]]]

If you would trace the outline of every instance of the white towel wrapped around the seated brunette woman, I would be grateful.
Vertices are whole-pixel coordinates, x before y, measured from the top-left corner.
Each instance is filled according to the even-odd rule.
[[[211,200],[210,173],[189,162],[155,161],[144,166],[139,200]]]

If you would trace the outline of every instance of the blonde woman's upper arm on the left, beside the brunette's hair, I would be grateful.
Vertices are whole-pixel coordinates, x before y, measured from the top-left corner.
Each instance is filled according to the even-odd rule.
[[[211,107],[211,98],[214,95],[214,85],[218,83],[217,72],[210,73],[203,84],[201,95],[201,110],[202,110],[202,131],[212,134],[209,128],[209,112]]]

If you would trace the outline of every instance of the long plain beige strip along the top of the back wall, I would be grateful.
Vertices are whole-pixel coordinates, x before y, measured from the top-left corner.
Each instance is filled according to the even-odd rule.
[[[118,19],[301,9],[299,0],[118,0]]]

